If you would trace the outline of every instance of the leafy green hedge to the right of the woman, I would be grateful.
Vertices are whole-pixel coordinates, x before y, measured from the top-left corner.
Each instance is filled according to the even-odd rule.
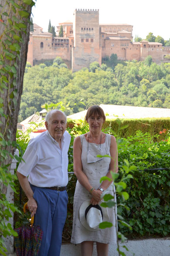
[[[127,181],[126,205],[130,211],[118,208],[133,231],[120,228],[133,238],[170,234],[170,131],[164,129],[160,133],[166,134],[166,139],[159,143],[154,143],[149,133],[137,131],[136,136],[123,138],[119,144],[119,165],[127,159],[137,166],[130,172],[133,181]]]

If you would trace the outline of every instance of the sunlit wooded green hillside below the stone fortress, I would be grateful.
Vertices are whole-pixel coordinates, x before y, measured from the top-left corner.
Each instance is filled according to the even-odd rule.
[[[20,104],[19,122],[41,111],[50,102],[68,102],[73,107],[81,101],[94,104],[132,105],[170,108],[170,63],[156,65],[148,56],[143,62],[118,63],[107,67],[92,63],[72,74],[65,63],[55,62],[30,67],[24,75],[24,89]],[[76,105],[73,112],[85,109]],[[67,112],[70,114],[70,112]]]

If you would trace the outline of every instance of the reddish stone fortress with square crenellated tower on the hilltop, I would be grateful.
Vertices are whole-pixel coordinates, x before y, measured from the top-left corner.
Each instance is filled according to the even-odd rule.
[[[27,53],[31,65],[60,56],[73,71],[78,71],[94,61],[101,65],[102,58],[112,53],[117,54],[118,60],[142,61],[150,55],[156,63],[170,54],[170,47],[159,42],[132,42],[132,25],[99,24],[99,10],[75,9],[73,15],[73,23],[59,23],[56,37],[34,24]],[[63,37],[58,36],[61,25]]]

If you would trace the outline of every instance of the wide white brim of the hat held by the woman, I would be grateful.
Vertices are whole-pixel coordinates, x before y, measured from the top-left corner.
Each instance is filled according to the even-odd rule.
[[[102,203],[102,202],[101,202]],[[85,210],[86,208],[90,205],[90,200],[86,200],[85,202],[82,203],[80,209],[79,209],[79,220],[81,222],[81,224],[88,230],[90,231],[97,231],[99,230],[99,226],[97,228],[91,228],[89,227],[86,219],[85,219]],[[100,203],[99,203],[100,205]],[[100,206],[101,207],[101,206]],[[101,207],[102,208],[102,213],[103,213],[103,221],[109,221],[109,215],[108,215],[108,210],[105,207]]]

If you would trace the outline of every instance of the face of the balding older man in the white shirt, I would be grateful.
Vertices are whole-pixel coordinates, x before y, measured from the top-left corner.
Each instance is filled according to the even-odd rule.
[[[50,135],[59,142],[66,129],[66,119],[62,112],[56,111],[52,113],[48,123],[45,122],[45,126]]]

